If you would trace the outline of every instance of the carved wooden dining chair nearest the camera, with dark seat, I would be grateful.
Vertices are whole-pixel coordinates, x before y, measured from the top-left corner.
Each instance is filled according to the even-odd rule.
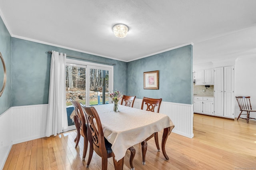
[[[94,107],[82,107],[84,110],[86,120],[88,122],[88,140],[90,142],[89,156],[87,161],[87,168],[92,160],[93,151],[96,152],[102,158],[102,170],[107,170],[108,168],[108,158],[113,157],[112,144],[104,137],[100,117]],[[129,148],[131,152],[130,156],[130,166],[134,170],[132,161],[135,156],[134,147]],[[114,157],[113,157],[114,160]]]

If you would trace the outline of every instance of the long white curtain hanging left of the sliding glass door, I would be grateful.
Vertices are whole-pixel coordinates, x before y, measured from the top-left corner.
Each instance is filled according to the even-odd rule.
[[[56,136],[68,129],[65,67],[66,54],[52,51],[46,125],[47,137],[51,135]]]

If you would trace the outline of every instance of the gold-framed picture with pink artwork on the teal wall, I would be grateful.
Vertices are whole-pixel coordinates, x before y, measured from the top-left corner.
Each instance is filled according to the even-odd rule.
[[[159,70],[144,72],[144,89],[159,89]]]

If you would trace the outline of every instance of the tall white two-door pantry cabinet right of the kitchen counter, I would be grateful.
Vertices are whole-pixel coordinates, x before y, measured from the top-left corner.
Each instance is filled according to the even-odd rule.
[[[234,66],[214,69],[214,115],[234,118]]]

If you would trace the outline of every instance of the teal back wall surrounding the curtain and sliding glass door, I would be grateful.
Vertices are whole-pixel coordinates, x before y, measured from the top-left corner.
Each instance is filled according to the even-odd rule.
[[[52,50],[76,57],[116,63],[114,89],[126,93],[126,62],[12,38],[12,106],[48,103],[51,54],[47,51]]]

